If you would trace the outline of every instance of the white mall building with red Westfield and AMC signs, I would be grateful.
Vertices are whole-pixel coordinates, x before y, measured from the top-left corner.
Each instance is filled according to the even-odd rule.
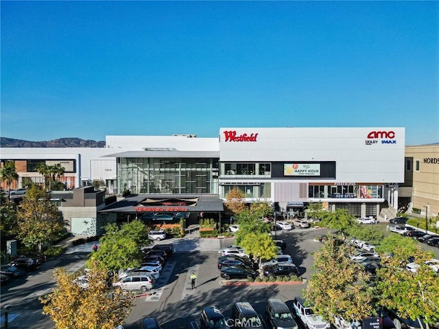
[[[60,162],[69,188],[104,180],[121,195],[211,194],[238,186],[298,214],[309,202],[383,217],[404,182],[403,127],[226,127],[195,135],[106,136],[106,148],[0,148],[24,177],[42,182],[39,162]],[[4,188],[4,186],[2,186]]]

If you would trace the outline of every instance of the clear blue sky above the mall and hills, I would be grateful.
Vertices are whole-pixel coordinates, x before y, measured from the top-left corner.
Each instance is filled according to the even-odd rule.
[[[438,1],[1,1],[1,136],[405,127],[439,142]]]

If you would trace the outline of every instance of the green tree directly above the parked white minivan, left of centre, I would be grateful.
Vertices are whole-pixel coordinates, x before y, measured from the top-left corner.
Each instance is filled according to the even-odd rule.
[[[114,273],[119,269],[139,267],[142,260],[141,247],[151,243],[148,230],[139,219],[122,224],[121,228],[116,223],[108,224],[106,235],[99,241],[101,245],[88,263],[97,260]]]

